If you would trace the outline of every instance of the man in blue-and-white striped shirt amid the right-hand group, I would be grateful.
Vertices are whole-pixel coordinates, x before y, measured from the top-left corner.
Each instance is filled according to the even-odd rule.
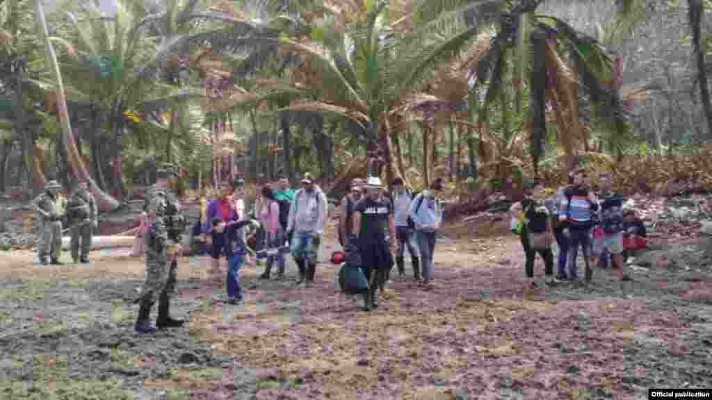
[[[576,258],[578,248],[581,246],[586,265],[586,282],[593,277],[590,265],[591,239],[590,231],[593,226],[592,211],[598,209],[596,195],[584,184],[586,175],[582,169],[572,172],[574,184],[564,191],[559,207],[559,221],[565,222],[569,230],[569,268],[568,278],[578,278]]]

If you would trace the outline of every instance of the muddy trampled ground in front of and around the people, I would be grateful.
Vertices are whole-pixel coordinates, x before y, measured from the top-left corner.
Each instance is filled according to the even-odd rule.
[[[132,332],[144,268],[127,250],[61,267],[0,253],[0,398],[647,399],[651,387],[712,387],[712,265],[530,289],[513,236],[438,246],[436,287],[395,279],[372,312],[336,290],[330,241],[310,289],[294,288],[291,263],[285,281],[246,266],[242,305],[206,280],[208,259],[182,258],[172,311],[187,326],[156,335]]]

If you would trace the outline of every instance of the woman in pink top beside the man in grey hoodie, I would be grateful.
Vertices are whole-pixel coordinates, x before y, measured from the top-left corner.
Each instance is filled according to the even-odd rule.
[[[256,210],[256,217],[264,226],[266,233],[267,248],[269,250],[279,249],[284,245],[284,232],[279,224],[279,204],[274,198],[274,192],[271,186],[267,185],[262,188],[262,199]],[[269,279],[272,263],[277,260],[277,278],[284,278],[284,254],[277,251],[274,256],[267,256],[267,265],[265,272],[260,275],[261,279]]]

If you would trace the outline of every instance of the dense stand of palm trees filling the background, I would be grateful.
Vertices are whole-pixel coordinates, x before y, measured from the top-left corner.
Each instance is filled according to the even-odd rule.
[[[619,51],[659,5],[619,1],[591,34],[557,1],[3,1],[0,190],[90,178],[108,211],[159,162],[182,189],[303,172],[339,189],[367,159],[387,181],[482,186],[669,150],[637,107],[671,88],[626,78]],[[687,13],[712,121],[710,4],[665,6]]]

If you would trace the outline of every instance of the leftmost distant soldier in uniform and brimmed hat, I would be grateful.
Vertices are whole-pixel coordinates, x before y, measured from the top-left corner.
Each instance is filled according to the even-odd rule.
[[[42,265],[48,262],[62,265],[59,260],[62,251],[62,212],[58,205],[57,191],[62,185],[57,181],[48,181],[45,191],[32,201],[31,207],[42,220],[42,240],[37,253]]]

